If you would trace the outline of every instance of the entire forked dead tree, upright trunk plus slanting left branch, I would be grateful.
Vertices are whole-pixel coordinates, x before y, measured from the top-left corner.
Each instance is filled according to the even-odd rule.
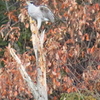
[[[22,64],[20,58],[16,55],[15,51],[9,45],[9,51],[12,57],[16,60],[19,65],[19,71],[23,77],[23,79],[27,82],[28,87],[30,88],[35,100],[48,100],[47,95],[47,83],[46,83],[46,60],[45,60],[45,52],[43,48],[44,43],[44,33],[42,31],[39,34],[36,23],[32,22],[30,18],[30,29],[32,32],[32,44],[36,57],[36,68],[37,68],[37,82],[34,83],[28,73],[26,72],[26,66]]]

